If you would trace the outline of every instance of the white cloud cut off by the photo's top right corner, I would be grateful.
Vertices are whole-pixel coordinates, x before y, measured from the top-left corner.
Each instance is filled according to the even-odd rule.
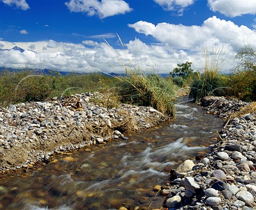
[[[255,0],[208,0],[213,12],[220,12],[234,18],[243,14],[256,14]]]

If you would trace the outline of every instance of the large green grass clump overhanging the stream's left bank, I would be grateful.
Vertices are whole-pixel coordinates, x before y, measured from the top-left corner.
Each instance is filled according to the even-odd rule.
[[[119,42],[124,47],[120,38]],[[110,51],[114,51],[108,43],[106,46]],[[119,82],[116,87],[121,102],[138,106],[151,106],[164,115],[173,118],[175,116],[173,104],[175,91],[173,83],[165,78],[159,77],[150,70],[143,71],[139,66],[138,68],[132,67],[131,62],[128,68],[119,59],[118,55],[116,57],[122,63],[126,72],[126,76],[118,77]]]

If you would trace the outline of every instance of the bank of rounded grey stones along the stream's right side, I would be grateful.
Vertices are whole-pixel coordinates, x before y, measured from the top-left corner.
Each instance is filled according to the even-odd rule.
[[[256,104],[207,97],[201,105],[223,119],[223,130],[207,157],[196,164],[186,160],[171,171],[171,184],[161,187],[164,206],[256,209]]]

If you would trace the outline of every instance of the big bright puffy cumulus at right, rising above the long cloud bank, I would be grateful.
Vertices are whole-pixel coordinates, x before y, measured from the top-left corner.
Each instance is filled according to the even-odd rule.
[[[169,23],[158,23],[156,26],[145,21],[129,24],[138,33],[151,35],[157,41],[169,44],[175,49],[197,51],[206,45],[223,46],[228,44],[238,50],[243,42],[250,40],[256,42],[256,31],[245,26],[237,26],[231,21],[212,17],[203,22],[201,26],[184,26]]]

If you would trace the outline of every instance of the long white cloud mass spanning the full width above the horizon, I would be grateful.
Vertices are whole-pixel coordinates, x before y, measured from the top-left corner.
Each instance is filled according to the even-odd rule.
[[[0,41],[0,46],[12,49],[15,45],[25,52],[0,51],[1,66],[21,68],[48,68],[55,70],[95,71],[98,68],[106,72],[121,72],[124,67],[116,56],[129,67],[153,69],[158,72],[169,73],[177,67],[177,63],[186,61],[193,63],[193,68],[201,69],[203,60],[200,54],[205,47],[223,47],[226,58],[234,56],[236,51],[249,43],[256,47],[256,31],[245,26],[237,26],[231,21],[216,17],[209,18],[201,26],[172,25],[169,23],[153,23],[139,21],[130,25],[139,33],[153,36],[156,44],[145,44],[140,39],[124,44],[126,53],[122,49],[109,51],[106,46],[91,40],[84,40],[81,44],[56,42],[53,40],[42,42],[6,42]],[[122,38],[122,37],[121,37]],[[33,49],[31,52],[27,49]],[[231,60],[234,62],[233,60]],[[229,71],[235,63],[229,63],[225,70]],[[113,69],[111,64],[116,68]]]

